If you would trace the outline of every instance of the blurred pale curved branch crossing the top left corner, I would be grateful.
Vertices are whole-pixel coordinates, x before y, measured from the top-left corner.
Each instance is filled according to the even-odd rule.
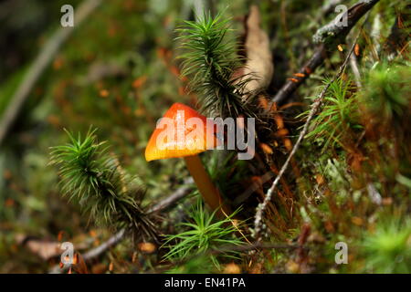
[[[10,99],[10,104],[5,109],[2,120],[0,120],[0,146],[5,140],[5,136],[16,120],[18,113],[22,109],[31,90],[37,83],[38,78],[42,75],[48,64],[57,55],[59,48],[68,39],[75,27],[79,26],[88,16],[100,5],[101,0],[85,0],[74,15],[75,26],[60,27],[58,31],[51,36],[47,44],[37,55],[33,64],[28,68],[25,77]]]

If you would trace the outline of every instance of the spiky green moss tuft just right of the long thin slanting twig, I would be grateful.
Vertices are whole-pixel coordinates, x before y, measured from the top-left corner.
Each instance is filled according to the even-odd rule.
[[[323,82],[328,84],[330,80]],[[352,94],[351,82],[342,79],[332,82],[324,103],[323,109],[312,121],[314,129],[306,138],[321,141],[323,150],[326,150],[336,144],[343,146],[347,134],[351,130],[361,129],[361,125],[358,123],[358,105]],[[304,112],[302,116],[307,116],[309,112]]]

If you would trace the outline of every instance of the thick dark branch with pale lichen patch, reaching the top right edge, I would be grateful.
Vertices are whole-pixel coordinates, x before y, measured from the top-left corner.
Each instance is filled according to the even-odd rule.
[[[341,16],[337,16],[329,24],[322,26],[317,30],[316,34],[313,36],[313,40],[319,45],[314,50],[314,55],[312,55],[310,60],[300,68],[298,72],[298,75],[300,76],[297,79],[298,82],[295,82],[295,78],[287,80],[274,98],[271,99],[271,102],[283,104],[290,99],[291,94],[324,62],[327,52],[334,50],[336,45],[342,43],[353,26],[355,26],[367,12],[378,3],[378,1],[379,0],[362,0],[349,8],[344,15],[347,17],[347,26],[341,26]],[[271,107],[268,109],[270,108]]]

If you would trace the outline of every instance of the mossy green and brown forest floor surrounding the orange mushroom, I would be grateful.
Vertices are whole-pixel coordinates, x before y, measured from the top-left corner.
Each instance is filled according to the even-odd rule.
[[[43,45],[64,29],[63,2],[31,1],[31,15],[18,7],[0,14],[0,35],[13,47],[0,41],[0,118]],[[198,109],[203,100],[201,90],[189,88],[198,80],[189,83],[182,73],[176,39],[183,20],[195,20],[191,1],[104,2],[41,72],[0,145],[0,273],[67,273],[59,266],[63,242],[75,246],[73,273],[411,273],[405,2],[377,1],[368,13],[357,6],[350,11],[361,17],[338,37],[316,35],[338,15],[322,1],[205,1],[213,16],[228,19],[243,48],[260,33],[244,26],[257,5],[274,65],[253,99],[261,120],[254,158],[200,155],[237,210],[224,218],[202,203],[183,159],[144,157],[157,120],[174,102]],[[319,66],[311,70],[310,59]],[[279,95],[285,85],[295,90]],[[77,152],[56,148],[67,143]],[[79,160],[84,150],[93,156]],[[81,162],[98,170],[98,186],[59,172]],[[128,208],[116,200],[130,196],[132,211],[121,214],[100,200],[105,180],[124,193],[112,204]],[[124,191],[128,185],[137,187]],[[245,193],[250,185],[256,187]]]

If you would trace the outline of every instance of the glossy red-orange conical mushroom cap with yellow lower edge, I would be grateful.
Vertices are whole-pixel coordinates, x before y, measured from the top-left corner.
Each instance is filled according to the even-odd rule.
[[[145,148],[145,160],[191,156],[213,149],[217,144],[215,125],[212,120],[208,123],[207,127],[205,116],[197,111],[174,103],[157,122]]]

